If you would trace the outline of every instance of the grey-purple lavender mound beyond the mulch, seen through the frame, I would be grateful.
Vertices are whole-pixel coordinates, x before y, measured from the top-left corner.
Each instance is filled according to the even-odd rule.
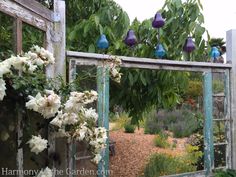
[[[176,138],[188,137],[191,134],[202,130],[203,116],[200,113],[192,113],[187,109],[155,110],[145,120],[145,133],[155,134],[161,130],[173,132]]]

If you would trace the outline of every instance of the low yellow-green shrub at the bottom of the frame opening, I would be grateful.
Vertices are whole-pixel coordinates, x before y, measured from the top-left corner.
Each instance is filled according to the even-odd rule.
[[[172,157],[167,154],[153,154],[144,169],[144,176],[158,177],[195,170],[196,168],[193,165],[185,163],[180,157]]]

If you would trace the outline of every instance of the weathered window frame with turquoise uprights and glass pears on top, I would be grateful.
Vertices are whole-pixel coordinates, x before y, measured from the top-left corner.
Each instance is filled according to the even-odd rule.
[[[92,54],[83,52],[67,51],[67,59],[69,61],[69,80],[75,79],[77,65],[94,65],[97,66],[97,89],[99,93],[98,113],[99,125],[109,129],[108,110],[109,110],[109,73],[105,66],[105,61],[110,59],[110,55]],[[149,58],[124,57],[122,59],[122,67],[141,68],[153,70],[174,70],[174,71],[190,71],[202,72],[204,83],[204,170],[192,173],[171,175],[171,176],[208,176],[214,168],[214,146],[222,145],[222,143],[213,142],[213,91],[212,91],[212,74],[222,73],[225,76],[225,101],[224,101],[224,119],[227,130],[226,141],[226,167],[232,168],[232,151],[231,151],[231,106],[230,106],[230,71],[232,64],[218,64],[206,62],[186,62],[173,60],[159,60]],[[231,76],[232,77],[232,76]],[[109,142],[107,142],[107,147]],[[98,170],[109,170],[109,152],[106,149],[103,154],[103,161],[100,163]],[[101,175],[102,176],[102,175]]]

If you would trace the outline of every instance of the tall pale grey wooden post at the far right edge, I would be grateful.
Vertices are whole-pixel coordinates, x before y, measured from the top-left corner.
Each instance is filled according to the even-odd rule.
[[[230,70],[230,92],[231,92],[231,159],[230,168],[236,170],[236,30],[229,30],[226,33],[227,63],[232,64]]]

